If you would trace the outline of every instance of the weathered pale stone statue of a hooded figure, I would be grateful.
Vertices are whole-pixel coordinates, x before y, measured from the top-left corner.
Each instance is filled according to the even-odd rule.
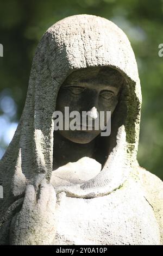
[[[85,70],[88,73],[84,80]],[[54,112],[60,109],[61,99],[67,106],[68,98],[60,96],[60,89],[68,84],[65,81],[74,80],[77,84],[82,74],[80,85],[86,87],[88,83],[84,81],[89,81],[89,76],[91,84],[96,84],[107,77],[107,70],[122,78],[121,93],[111,115],[110,136],[94,136],[95,157],[94,151],[86,153],[91,139],[84,143],[84,136],[91,133],[71,131],[72,137],[75,134],[73,138],[82,139],[83,144],[73,140],[71,145],[66,144],[66,138],[57,144]],[[69,95],[71,91],[75,101],[85,88],[75,88],[74,84],[62,94]],[[102,89],[98,93],[100,101],[105,100],[106,105],[110,94],[114,92]],[[90,103],[91,96],[85,97],[85,102]],[[73,105],[72,98],[69,103],[68,106]],[[79,108],[82,104],[76,100]],[[90,107],[93,116],[96,106]],[[0,243],[162,244],[163,183],[136,160],[140,109],[136,60],[120,28],[93,15],[67,17],[50,27],[37,47],[22,117],[0,162]],[[72,145],[79,144],[85,147],[85,154],[72,161],[76,155]],[[66,153],[62,153],[64,147]]]

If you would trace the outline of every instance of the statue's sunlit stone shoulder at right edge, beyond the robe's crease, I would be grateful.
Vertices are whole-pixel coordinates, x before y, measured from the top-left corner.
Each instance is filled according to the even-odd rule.
[[[145,191],[146,199],[152,205],[160,228],[160,242],[163,245],[163,182],[146,169],[138,168],[139,181]]]

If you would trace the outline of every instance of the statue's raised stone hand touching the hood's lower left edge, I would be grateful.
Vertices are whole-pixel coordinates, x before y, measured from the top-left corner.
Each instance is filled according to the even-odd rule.
[[[22,209],[12,219],[11,245],[51,245],[54,240],[55,191],[45,179],[37,186],[27,185]]]

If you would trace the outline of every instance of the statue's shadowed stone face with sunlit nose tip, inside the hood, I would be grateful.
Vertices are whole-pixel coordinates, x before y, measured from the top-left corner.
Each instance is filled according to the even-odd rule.
[[[92,130],[60,130],[59,133],[74,143],[89,143],[101,133],[100,126],[95,130],[97,112],[104,111],[106,125],[106,111],[114,112],[118,103],[120,89],[124,78],[118,71],[110,68],[87,68],[74,71],[62,84],[57,97],[56,111],[61,111],[65,116],[65,106],[69,111],[87,111],[87,119],[92,119]],[[70,121],[73,118],[70,118]],[[99,118],[100,120],[100,118]],[[78,125],[78,124],[77,124]],[[80,121],[82,125],[82,119]],[[85,124],[83,124],[85,125]],[[82,129],[82,127],[81,127]]]

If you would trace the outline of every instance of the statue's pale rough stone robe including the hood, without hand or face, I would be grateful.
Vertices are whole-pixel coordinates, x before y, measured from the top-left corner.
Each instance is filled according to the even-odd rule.
[[[61,84],[71,72],[96,66],[117,69],[126,78],[126,86],[111,119],[111,135],[102,138],[108,156],[101,172],[82,182],[67,178],[60,185],[54,184],[57,204],[53,244],[163,243],[163,182],[139,167],[136,160],[141,87],[130,42],[111,21],[76,15],[50,27],[35,53],[26,105],[0,162],[4,188],[4,198],[0,199],[1,244],[12,243],[11,220],[21,210],[28,182],[38,174],[52,182],[53,150],[54,154],[57,150],[52,117]],[[31,241],[35,241],[33,236]],[[36,243],[48,241],[38,237]]]

